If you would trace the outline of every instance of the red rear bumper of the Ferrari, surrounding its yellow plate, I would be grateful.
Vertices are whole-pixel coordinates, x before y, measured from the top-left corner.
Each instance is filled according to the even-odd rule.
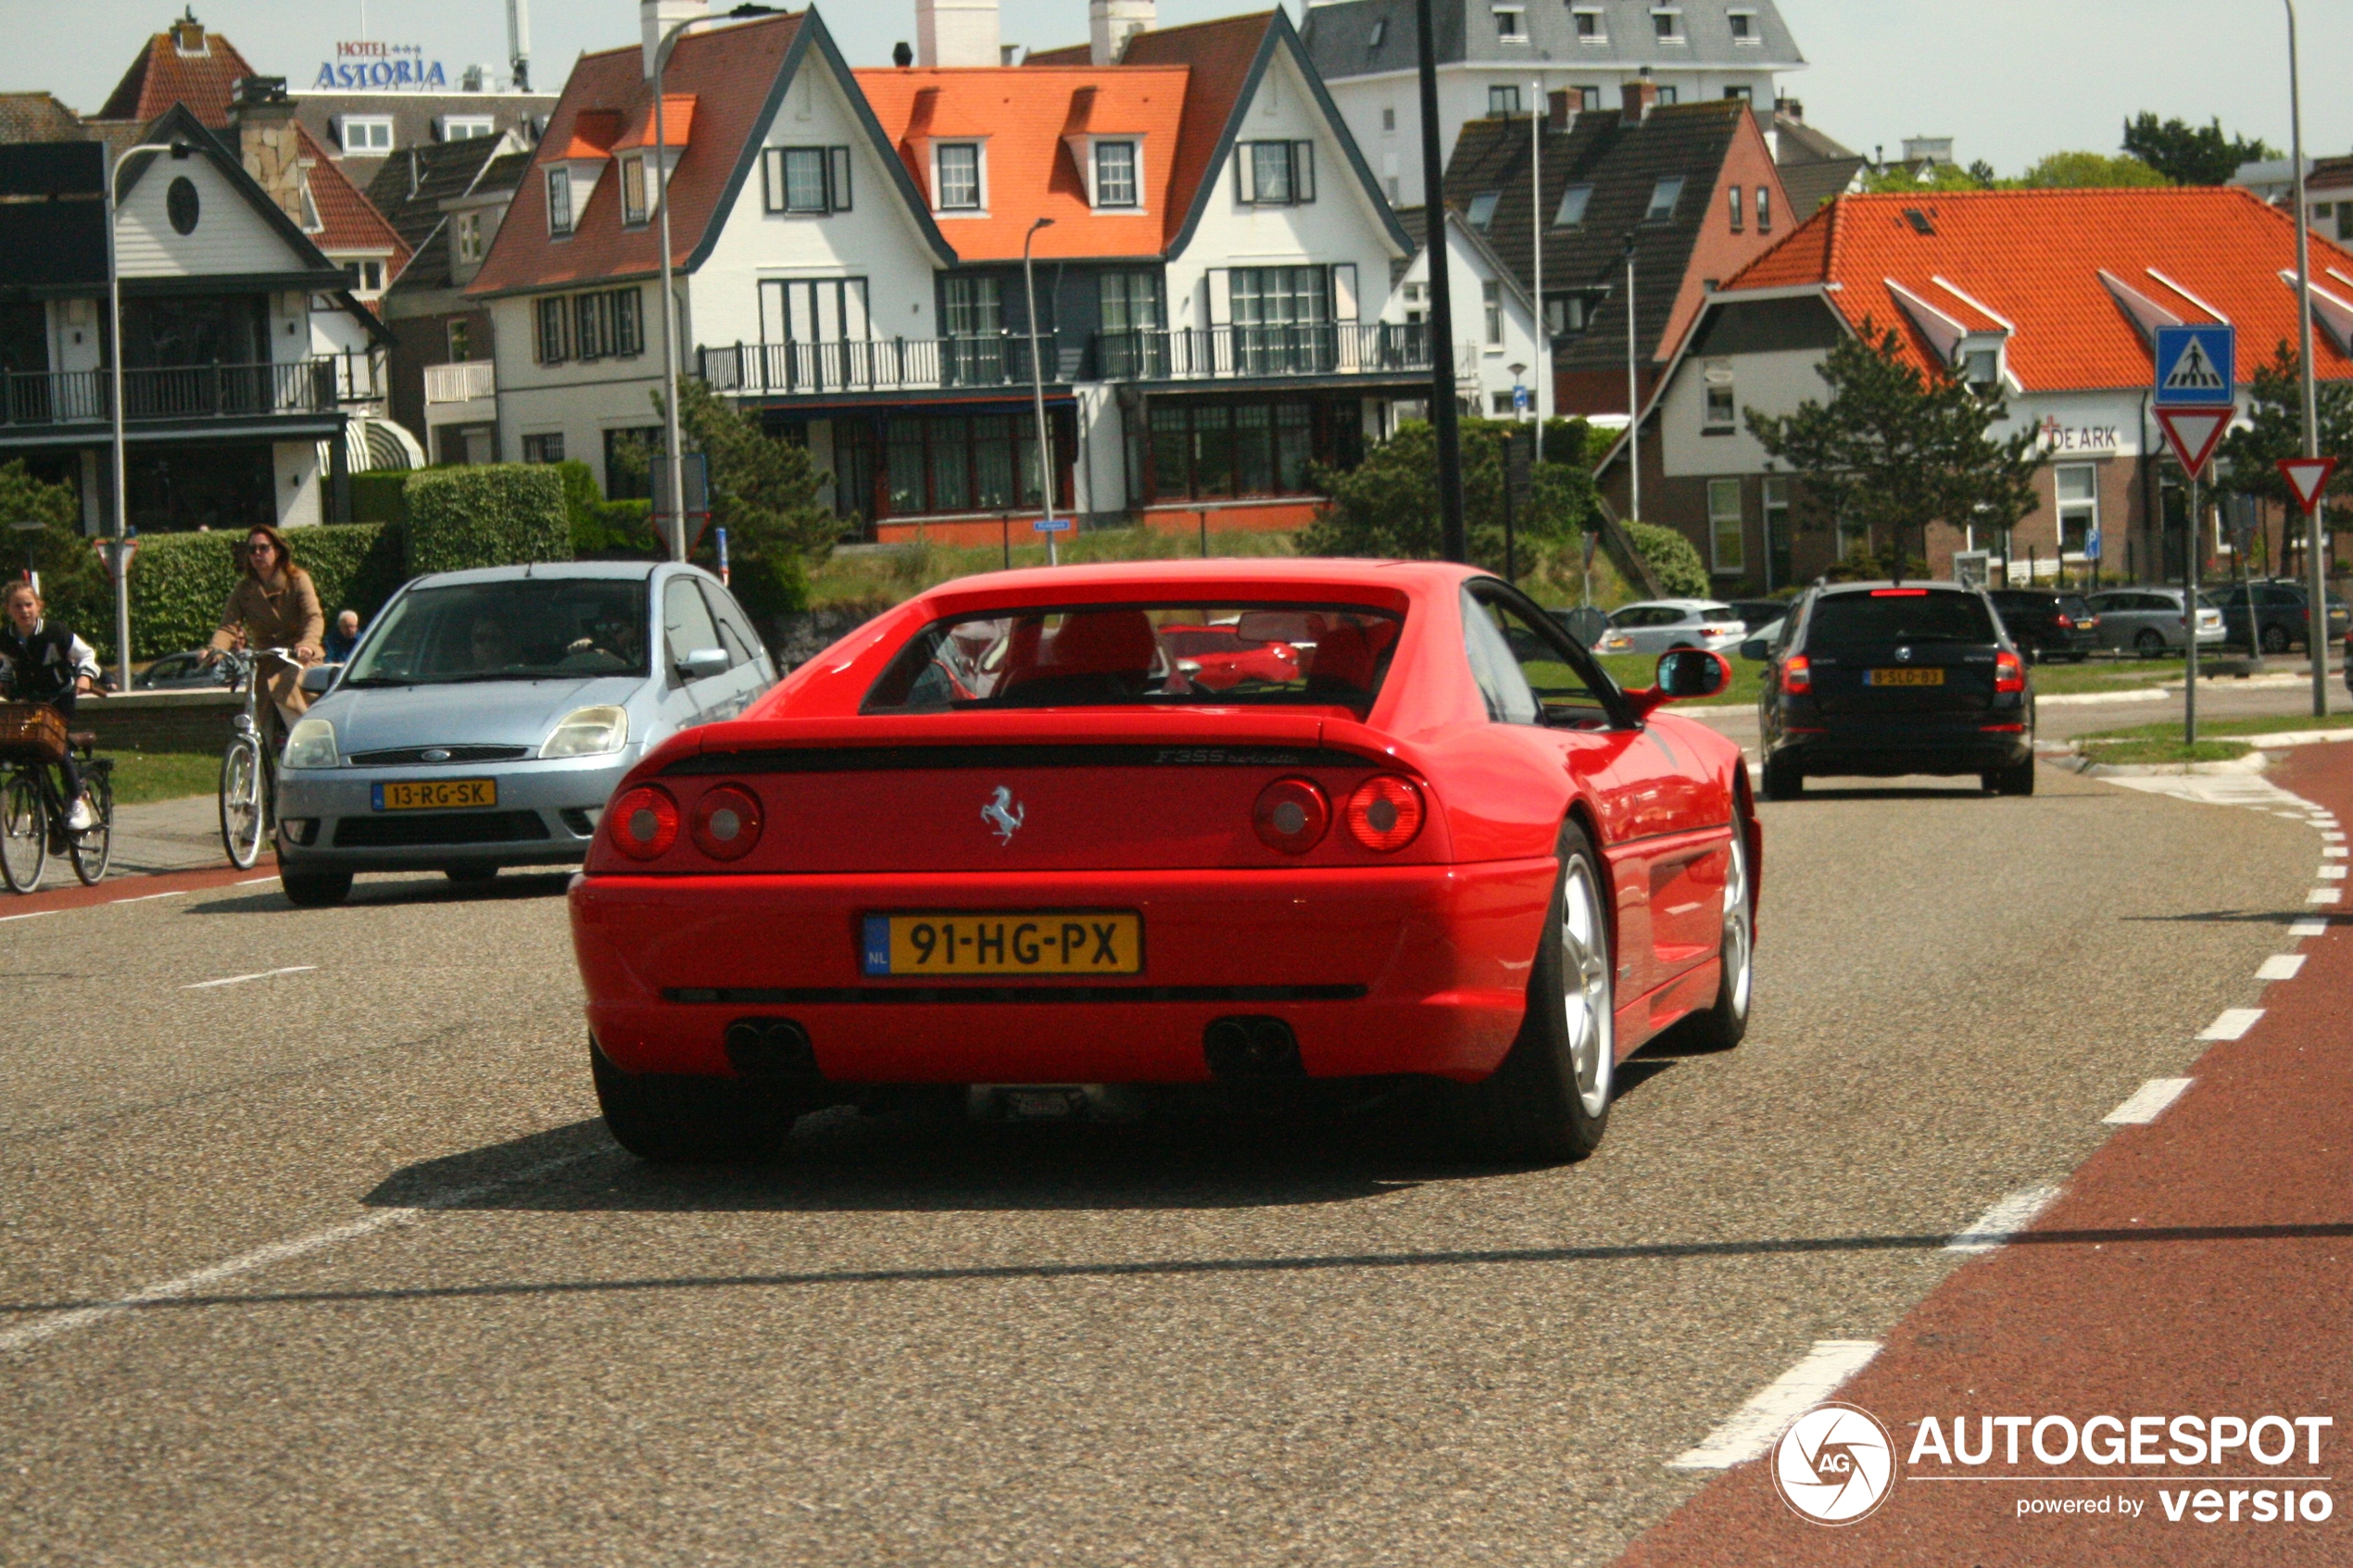
[[[1553,860],[1315,872],[581,877],[588,1025],[624,1072],[729,1077],[736,1018],[793,1018],[833,1084],[1198,1084],[1217,1018],[1292,1025],[1308,1077],[1494,1072]],[[866,980],[873,910],[1136,910],[1125,980]]]

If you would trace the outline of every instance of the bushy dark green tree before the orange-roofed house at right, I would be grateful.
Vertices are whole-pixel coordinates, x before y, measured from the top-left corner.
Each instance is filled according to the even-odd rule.
[[[1894,569],[1915,538],[1927,555],[1934,522],[2000,531],[2035,510],[2038,433],[1988,435],[2009,418],[2000,393],[1972,390],[1951,367],[1922,374],[1904,357],[1904,339],[1868,317],[1817,374],[1828,402],[1741,411],[1767,456],[1798,477],[1802,527],[1861,527]]]

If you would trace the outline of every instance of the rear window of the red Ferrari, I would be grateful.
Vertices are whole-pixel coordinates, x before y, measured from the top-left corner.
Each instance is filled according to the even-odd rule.
[[[1071,604],[922,628],[864,712],[1346,705],[1381,691],[1402,618],[1355,604]]]

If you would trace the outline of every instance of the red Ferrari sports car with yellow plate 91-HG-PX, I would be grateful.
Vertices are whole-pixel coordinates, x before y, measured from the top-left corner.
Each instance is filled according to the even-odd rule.
[[[1289,656],[1205,686],[1162,628]],[[946,583],[614,792],[572,886],[605,1119],[729,1159],[955,1086],[1424,1077],[1487,1152],[1577,1159],[1628,1051],[1748,1020],[1748,773],[1657,712],[1727,679],[1621,691],[1428,562]]]

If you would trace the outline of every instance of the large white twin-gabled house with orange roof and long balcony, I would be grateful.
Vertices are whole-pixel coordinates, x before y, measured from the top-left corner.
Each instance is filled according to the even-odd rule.
[[[652,40],[699,7],[642,9]],[[1035,289],[1056,515],[1304,522],[1308,465],[1384,435],[1428,348],[1374,320],[1409,244],[1289,21],[1024,66],[993,7],[948,24],[875,71],[814,9],[680,38],[685,369],[805,442],[868,536],[1026,538]],[[496,315],[501,454],[588,458],[607,494],[619,442],[659,440],[647,78],[649,42],[581,56],[468,289]]]

